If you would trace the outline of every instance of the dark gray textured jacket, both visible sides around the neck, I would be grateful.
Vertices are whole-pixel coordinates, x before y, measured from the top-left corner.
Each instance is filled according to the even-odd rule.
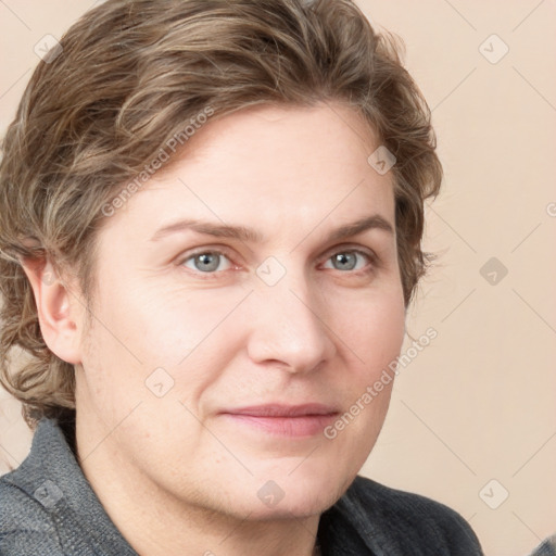
[[[318,540],[323,556],[482,555],[454,510],[364,477],[321,515]],[[0,477],[0,555],[137,556],[53,420],[39,422],[28,457]]]

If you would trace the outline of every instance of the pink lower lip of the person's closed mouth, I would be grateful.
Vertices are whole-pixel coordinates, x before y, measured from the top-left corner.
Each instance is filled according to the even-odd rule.
[[[224,414],[239,425],[258,428],[281,437],[314,437],[319,434],[337,417],[329,415],[301,415],[298,417],[260,417],[255,415]]]

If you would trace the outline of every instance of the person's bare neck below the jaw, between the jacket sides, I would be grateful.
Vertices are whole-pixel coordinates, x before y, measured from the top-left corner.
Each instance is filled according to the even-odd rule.
[[[101,443],[76,422],[78,462],[104,510],[141,556],[314,556],[319,516],[253,520],[176,496],[122,460],[117,434]]]

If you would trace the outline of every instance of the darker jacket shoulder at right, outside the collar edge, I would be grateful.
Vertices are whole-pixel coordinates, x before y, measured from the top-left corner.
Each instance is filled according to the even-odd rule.
[[[333,506],[372,548],[384,553],[482,555],[467,521],[444,504],[357,476]],[[369,547],[371,547],[369,545]]]

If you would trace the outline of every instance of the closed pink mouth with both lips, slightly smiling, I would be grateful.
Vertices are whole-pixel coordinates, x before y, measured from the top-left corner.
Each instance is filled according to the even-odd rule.
[[[280,437],[314,437],[340,415],[325,404],[267,404],[226,409],[220,415],[240,427]]]

